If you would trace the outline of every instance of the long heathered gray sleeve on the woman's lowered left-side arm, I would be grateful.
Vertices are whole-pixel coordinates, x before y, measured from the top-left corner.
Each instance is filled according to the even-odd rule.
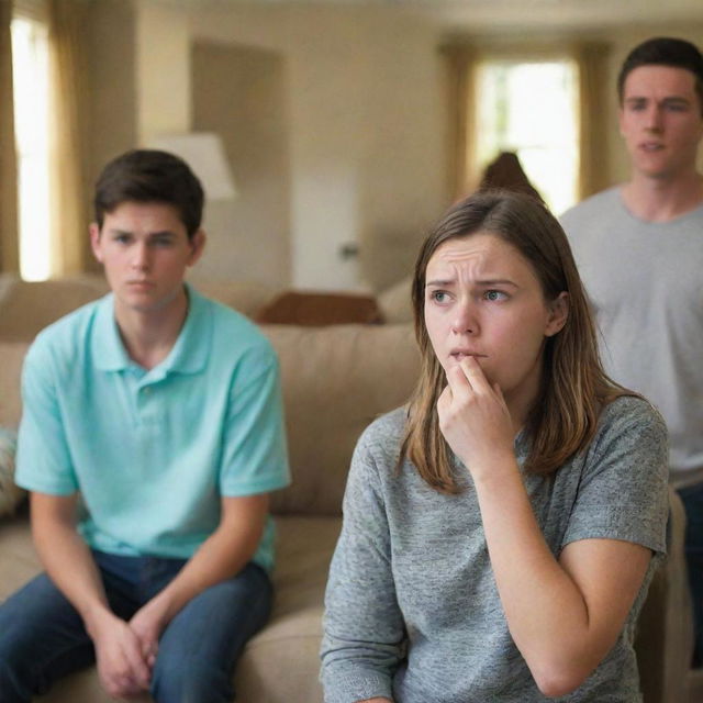
[[[367,435],[352,460],[325,595],[321,678],[326,703],[391,699],[393,673],[404,656],[389,526]]]

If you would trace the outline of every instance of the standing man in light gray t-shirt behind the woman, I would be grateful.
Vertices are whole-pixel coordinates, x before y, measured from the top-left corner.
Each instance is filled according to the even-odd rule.
[[[669,426],[701,666],[703,56],[682,40],[649,40],[625,59],[617,90],[631,180],[577,205],[561,223],[598,316],[606,371],[651,400]]]

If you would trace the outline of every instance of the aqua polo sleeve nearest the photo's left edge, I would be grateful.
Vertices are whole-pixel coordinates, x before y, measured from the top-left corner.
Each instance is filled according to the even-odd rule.
[[[78,490],[78,479],[62,421],[55,369],[52,349],[40,337],[22,367],[15,481],[30,491],[70,495]]]

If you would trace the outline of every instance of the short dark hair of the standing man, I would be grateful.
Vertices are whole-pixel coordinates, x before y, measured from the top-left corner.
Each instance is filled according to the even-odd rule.
[[[703,113],[703,56],[694,44],[670,36],[657,36],[635,46],[617,76],[617,96],[621,103],[627,76],[640,66],[671,66],[690,70],[695,78],[695,92]]]

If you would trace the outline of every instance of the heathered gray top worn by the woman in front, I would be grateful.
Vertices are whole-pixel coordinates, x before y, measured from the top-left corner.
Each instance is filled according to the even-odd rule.
[[[470,475],[457,461],[466,490],[446,495],[429,488],[409,461],[397,473],[404,424],[403,409],[377,420],[352,461],[326,593],[325,701],[555,700],[539,692],[511,637]],[[518,435],[521,464],[526,444]],[[635,398],[611,403],[590,447],[551,478],[524,476],[555,556],[588,538],[623,539],[662,554],[667,479],[663,422]],[[633,635],[656,561],[617,644],[574,693],[559,701],[641,701]]]

